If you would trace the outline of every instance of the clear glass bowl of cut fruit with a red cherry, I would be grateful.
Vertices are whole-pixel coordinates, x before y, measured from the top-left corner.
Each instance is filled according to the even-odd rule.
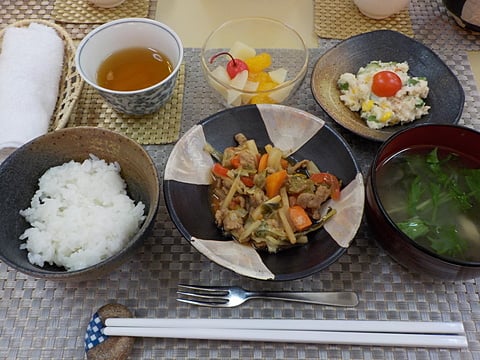
[[[214,94],[226,107],[285,103],[307,72],[302,36],[274,19],[229,20],[202,47],[201,64]]]

